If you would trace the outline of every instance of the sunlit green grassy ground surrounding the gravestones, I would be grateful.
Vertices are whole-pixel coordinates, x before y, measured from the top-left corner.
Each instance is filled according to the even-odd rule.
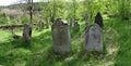
[[[130,22],[104,19],[104,53],[84,51],[85,22],[79,22],[79,32],[70,28],[72,52],[68,54],[53,53],[51,28],[37,31],[34,27],[29,47],[22,38],[13,39],[10,30],[0,30],[0,66],[130,66]]]

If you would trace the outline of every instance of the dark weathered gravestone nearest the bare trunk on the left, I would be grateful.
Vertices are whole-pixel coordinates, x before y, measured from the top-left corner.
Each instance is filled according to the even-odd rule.
[[[26,42],[31,42],[32,26],[28,24],[23,25],[23,38]]]

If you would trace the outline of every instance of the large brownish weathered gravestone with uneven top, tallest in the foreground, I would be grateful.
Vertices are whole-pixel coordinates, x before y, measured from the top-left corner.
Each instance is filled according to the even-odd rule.
[[[71,51],[71,36],[68,23],[61,18],[57,18],[51,27],[53,50],[57,53]]]

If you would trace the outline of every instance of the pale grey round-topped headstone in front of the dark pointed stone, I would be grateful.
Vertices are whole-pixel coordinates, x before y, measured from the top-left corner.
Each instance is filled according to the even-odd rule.
[[[96,15],[95,19],[103,18]],[[96,22],[85,30],[85,50],[103,52],[103,29]]]

